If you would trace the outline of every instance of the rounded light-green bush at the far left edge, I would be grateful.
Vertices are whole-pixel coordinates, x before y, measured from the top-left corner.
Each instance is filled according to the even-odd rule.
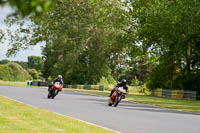
[[[26,70],[16,63],[0,65],[0,80],[4,81],[25,81],[32,79]]]

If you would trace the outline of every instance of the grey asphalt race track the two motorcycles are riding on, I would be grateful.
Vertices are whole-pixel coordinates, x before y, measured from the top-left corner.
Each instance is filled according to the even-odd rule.
[[[47,99],[47,88],[0,86],[0,95],[122,133],[200,133],[200,115],[63,90]],[[20,108],[20,107],[19,107]]]

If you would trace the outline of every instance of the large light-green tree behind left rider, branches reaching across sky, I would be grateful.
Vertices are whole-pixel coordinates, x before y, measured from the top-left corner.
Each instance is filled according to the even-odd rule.
[[[125,14],[123,2],[115,0],[55,1],[41,17],[32,15],[29,26],[18,16],[7,19],[8,25],[20,24],[9,33],[12,48],[7,55],[46,42],[42,71],[46,79],[62,74],[66,83],[96,84],[112,67],[111,75],[118,80],[115,66],[125,58]]]

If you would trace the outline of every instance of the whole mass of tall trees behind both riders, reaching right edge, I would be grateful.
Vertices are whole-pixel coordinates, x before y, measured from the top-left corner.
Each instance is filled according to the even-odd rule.
[[[15,33],[7,32],[13,40],[8,55],[43,42],[46,79],[62,74],[65,83],[96,84],[125,78],[150,89],[199,90],[199,5],[196,0],[55,0],[39,16],[7,18],[8,25],[20,24]]]

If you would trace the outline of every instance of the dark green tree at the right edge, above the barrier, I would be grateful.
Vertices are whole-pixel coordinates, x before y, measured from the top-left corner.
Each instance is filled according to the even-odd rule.
[[[200,79],[199,9],[198,1],[131,2],[129,31],[135,37],[134,42],[141,43],[151,57],[159,59],[149,71],[153,87],[200,88],[197,82]],[[182,78],[185,80],[180,80]],[[186,84],[193,84],[193,87]]]

